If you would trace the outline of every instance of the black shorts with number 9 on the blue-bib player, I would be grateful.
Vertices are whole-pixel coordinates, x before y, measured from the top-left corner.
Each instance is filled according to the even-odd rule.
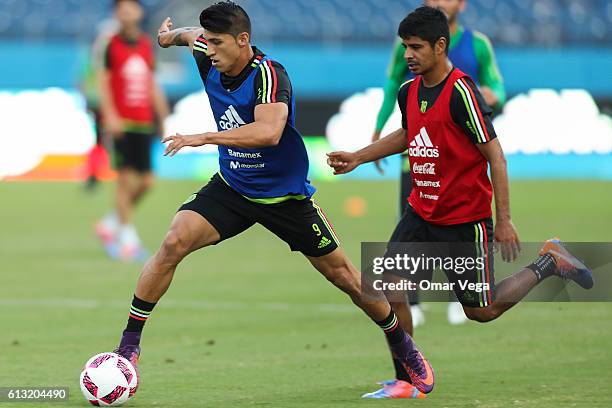
[[[219,242],[259,223],[289,244],[292,251],[319,257],[338,248],[333,227],[312,199],[289,199],[276,204],[253,202],[215,174],[179,208],[195,211],[221,235]]]

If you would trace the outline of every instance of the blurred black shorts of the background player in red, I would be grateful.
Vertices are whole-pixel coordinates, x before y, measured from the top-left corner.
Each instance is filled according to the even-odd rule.
[[[115,138],[115,168],[128,168],[139,173],[151,171],[152,143],[153,135],[150,133],[125,132],[120,138]]]

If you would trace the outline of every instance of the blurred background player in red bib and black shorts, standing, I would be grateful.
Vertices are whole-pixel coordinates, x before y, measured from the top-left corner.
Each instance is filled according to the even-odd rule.
[[[114,11],[119,32],[106,46],[98,85],[103,128],[114,141],[118,178],[115,210],[96,224],[96,233],[111,256],[136,260],[146,253],[132,224],[133,211],[153,184],[156,118],[163,134],[169,108],[153,76],[151,40],[140,27],[142,5],[138,0],[115,0]]]

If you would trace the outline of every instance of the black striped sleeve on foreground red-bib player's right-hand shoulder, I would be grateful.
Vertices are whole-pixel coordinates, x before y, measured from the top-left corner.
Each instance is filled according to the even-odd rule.
[[[491,113],[491,108],[473,81],[464,77],[455,82],[451,96],[451,116],[472,143],[487,143],[497,137]]]

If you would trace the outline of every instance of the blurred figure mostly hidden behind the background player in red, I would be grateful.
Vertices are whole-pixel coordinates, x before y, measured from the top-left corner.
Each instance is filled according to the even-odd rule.
[[[119,30],[119,24],[113,19],[103,21],[98,35],[87,56],[79,89],[85,97],[87,110],[92,116],[96,128],[96,144],[87,154],[85,163],[85,187],[93,190],[103,173],[108,169],[108,143],[104,140],[100,115],[100,97],[97,75],[104,68],[104,53],[110,38]]]

